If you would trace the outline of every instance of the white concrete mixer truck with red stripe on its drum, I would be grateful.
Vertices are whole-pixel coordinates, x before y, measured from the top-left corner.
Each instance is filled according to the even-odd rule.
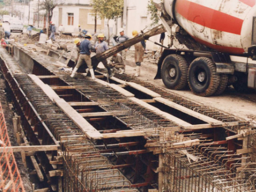
[[[154,0],[170,37],[155,79],[207,97],[256,89],[255,0]],[[178,44],[185,45],[179,49]]]

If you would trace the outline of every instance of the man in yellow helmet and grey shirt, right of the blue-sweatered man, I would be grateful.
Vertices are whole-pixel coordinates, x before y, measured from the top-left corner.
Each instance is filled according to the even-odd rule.
[[[106,41],[104,41],[104,38],[105,38],[104,34],[100,33],[100,34],[98,34],[97,37],[98,37],[98,41],[95,43],[96,55],[109,49],[108,44],[106,43]],[[109,77],[112,77],[112,72],[110,70],[108,60],[104,59],[101,62],[104,64],[104,67],[106,67],[106,69],[108,70]]]

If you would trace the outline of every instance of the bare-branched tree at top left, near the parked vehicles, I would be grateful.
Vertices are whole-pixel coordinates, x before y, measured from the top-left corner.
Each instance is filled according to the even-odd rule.
[[[64,0],[43,0],[40,1],[40,10],[46,10],[48,14],[48,24],[52,20],[54,14],[54,8],[58,5],[63,5]]]

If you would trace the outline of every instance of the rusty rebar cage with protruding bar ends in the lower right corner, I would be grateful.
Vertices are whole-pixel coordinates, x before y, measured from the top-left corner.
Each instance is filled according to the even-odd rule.
[[[243,161],[245,160],[245,163]],[[256,163],[223,145],[169,148],[164,156],[167,191],[255,191]]]

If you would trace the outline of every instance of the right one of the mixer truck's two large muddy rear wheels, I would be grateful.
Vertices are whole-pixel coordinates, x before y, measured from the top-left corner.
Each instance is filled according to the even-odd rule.
[[[220,75],[216,74],[215,63],[207,57],[198,57],[189,66],[188,82],[195,95],[213,95],[220,85]]]

